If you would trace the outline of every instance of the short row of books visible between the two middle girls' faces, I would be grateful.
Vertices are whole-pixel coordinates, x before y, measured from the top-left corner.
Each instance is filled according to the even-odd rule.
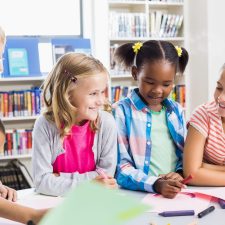
[[[117,102],[120,99],[127,97],[127,95],[134,89],[134,86],[115,86],[111,87],[111,102]]]

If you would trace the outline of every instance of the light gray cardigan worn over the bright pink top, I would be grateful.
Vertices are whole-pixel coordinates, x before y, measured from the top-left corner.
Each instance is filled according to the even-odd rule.
[[[117,163],[117,132],[113,116],[101,111],[99,113],[99,129],[95,134],[92,150],[96,168],[103,168],[107,174],[114,176]],[[80,182],[94,179],[96,171],[83,174],[53,174],[52,164],[58,155],[64,153],[58,129],[52,122],[41,115],[35,122],[33,130],[32,172],[38,193],[61,196]]]

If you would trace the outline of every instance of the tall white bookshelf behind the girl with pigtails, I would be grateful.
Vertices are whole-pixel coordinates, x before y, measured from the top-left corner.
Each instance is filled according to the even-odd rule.
[[[186,0],[108,0],[109,68],[111,75],[109,97],[112,102],[118,100],[114,87],[125,86],[132,89],[136,86],[129,72],[122,71],[113,61],[115,49],[127,42],[144,42],[151,39],[166,40],[174,45],[185,46],[185,4]],[[177,77],[176,84],[178,87],[183,87],[186,84],[185,75]],[[183,106],[186,105],[183,104]]]

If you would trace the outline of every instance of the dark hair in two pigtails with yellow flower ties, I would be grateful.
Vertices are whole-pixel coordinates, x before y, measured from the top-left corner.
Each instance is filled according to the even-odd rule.
[[[185,48],[179,47],[179,51],[168,41],[150,40],[141,44],[126,43],[119,46],[115,51],[114,59],[127,70],[136,66],[138,71],[145,63],[166,60],[176,66],[177,73],[183,73],[189,56]]]

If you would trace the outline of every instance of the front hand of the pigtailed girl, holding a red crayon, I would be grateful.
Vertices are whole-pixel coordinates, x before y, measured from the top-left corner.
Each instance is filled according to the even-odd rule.
[[[183,184],[178,180],[164,180],[162,178],[158,179],[154,184],[155,191],[165,198],[174,198],[182,187]]]

